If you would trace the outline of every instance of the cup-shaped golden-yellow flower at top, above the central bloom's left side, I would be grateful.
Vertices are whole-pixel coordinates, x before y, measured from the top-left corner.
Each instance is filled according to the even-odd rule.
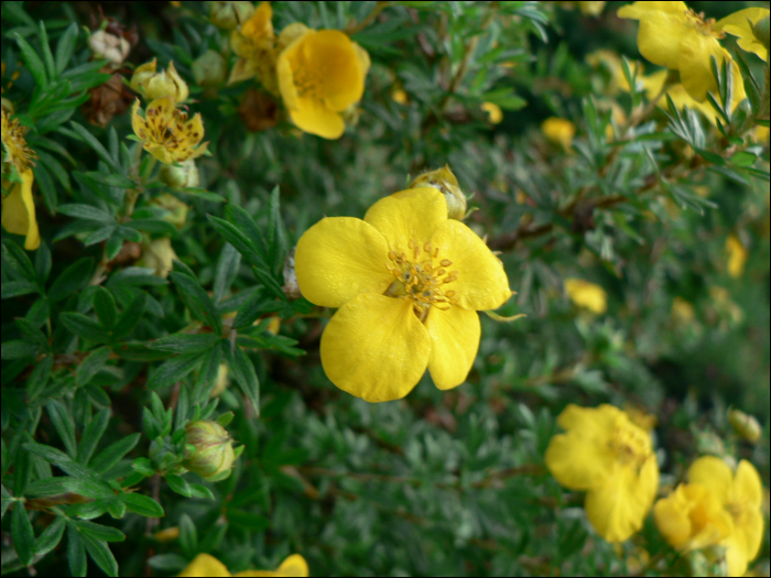
[[[369,54],[338,30],[306,30],[279,55],[279,90],[294,123],[324,139],[339,139],[341,112],[365,91]]]

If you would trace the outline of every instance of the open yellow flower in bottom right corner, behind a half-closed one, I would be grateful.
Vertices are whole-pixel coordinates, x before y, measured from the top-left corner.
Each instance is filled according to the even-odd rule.
[[[720,458],[705,456],[691,466],[688,480],[708,488],[730,516],[730,534],[719,544],[726,548],[728,576],[743,576],[763,539],[763,486],[758,471],[742,459],[734,475]]]

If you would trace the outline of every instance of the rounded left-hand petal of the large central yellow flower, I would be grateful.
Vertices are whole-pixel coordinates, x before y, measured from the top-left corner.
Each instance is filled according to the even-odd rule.
[[[362,292],[382,295],[393,282],[388,262],[383,236],[351,217],[322,219],[300,238],[294,254],[300,291],[323,307],[340,307]]]

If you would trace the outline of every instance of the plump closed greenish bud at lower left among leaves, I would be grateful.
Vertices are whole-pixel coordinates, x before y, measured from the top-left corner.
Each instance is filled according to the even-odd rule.
[[[202,478],[221,480],[227,478],[236,460],[232,439],[216,422],[192,422],[185,427],[185,441],[193,451],[182,465]]]

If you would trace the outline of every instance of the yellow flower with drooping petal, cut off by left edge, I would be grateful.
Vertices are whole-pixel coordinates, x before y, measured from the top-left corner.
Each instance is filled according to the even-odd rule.
[[[11,120],[7,110],[2,111],[2,162],[13,165],[18,181],[2,179],[2,186],[8,195],[2,197],[2,226],[8,232],[23,235],[24,249],[31,251],[40,247],[40,231],[35,217],[35,204],[32,200],[32,183],[34,175],[32,166],[36,155],[24,140],[24,128],[19,119]],[[3,171],[4,172],[4,171]]]

